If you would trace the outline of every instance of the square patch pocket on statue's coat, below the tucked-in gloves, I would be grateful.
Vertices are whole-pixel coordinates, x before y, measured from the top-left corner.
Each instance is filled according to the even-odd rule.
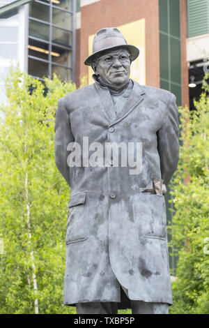
[[[139,237],[166,239],[167,217],[163,195],[140,193],[132,207]]]

